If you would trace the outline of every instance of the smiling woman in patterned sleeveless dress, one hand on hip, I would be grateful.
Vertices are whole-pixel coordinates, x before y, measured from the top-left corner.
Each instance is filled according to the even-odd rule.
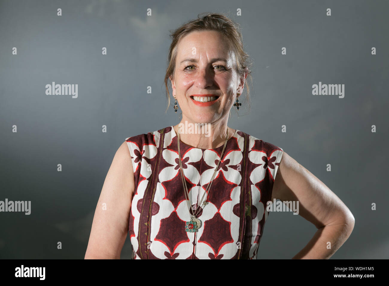
[[[129,232],[134,259],[256,259],[274,199],[298,201],[318,228],[293,258],[331,257],[352,232],[350,210],[282,148],[227,126],[251,72],[235,23],[208,14],[172,37],[165,84],[182,119],[119,147],[85,258],[120,258]]]

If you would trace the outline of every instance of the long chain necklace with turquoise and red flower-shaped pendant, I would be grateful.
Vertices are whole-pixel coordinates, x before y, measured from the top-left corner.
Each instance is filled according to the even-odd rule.
[[[191,206],[193,205],[192,204],[192,194],[189,196],[189,191],[186,187],[186,182],[184,182],[185,176],[184,176],[184,170],[182,169],[181,152],[180,152],[180,126],[178,127],[177,145],[178,145],[178,155],[180,158],[179,163],[180,163],[180,170],[181,170],[181,179],[182,179],[182,185],[184,186],[186,205],[188,207],[189,215],[191,217],[190,221],[186,221],[186,223],[185,223],[185,231],[186,232],[197,232],[197,230],[202,226],[202,222],[200,221],[200,219],[196,218],[196,216],[198,215],[198,210],[199,210],[200,205],[205,207],[205,205],[208,204],[209,189],[211,188],[212,182],[215,179],[217,168],[219,168],[221,158],[223,157],[223,154],[224,154],[224,149],[226,149],[227,141],[228,141],[228,127],[227,127],[226,142],[224,142],[223,151],[222,151],[221,156],[219,158],[219,162],[217,163],[217,166],[215,168],[215,172],[212,175],[211,181],[208,183],[207,190],[204,192],[203,197],[200,200],[200,204],[198,204],[196,211],[193,211],[193,209],[191,208]],[[199,190],[200,190],[200,187],[199,187]],[[203,202],[205,194],[207,194],[207,197],[205,198],[205,201]],[[203,202],[203,204],[202,204],[202,202]],[[191,209],[192,209],[192,213],[191,213]]]

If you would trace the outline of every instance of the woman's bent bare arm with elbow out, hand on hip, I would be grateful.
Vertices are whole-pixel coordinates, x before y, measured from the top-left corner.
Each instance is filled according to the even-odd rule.
[[[275,177],[273,198],[299,201],[299,214],[318,229],[314,237],[292,259],[328,259],[349,238],[354,216],[322,181],[296,162],[282,155]],[[331,242],[331,249],[328,249]]]

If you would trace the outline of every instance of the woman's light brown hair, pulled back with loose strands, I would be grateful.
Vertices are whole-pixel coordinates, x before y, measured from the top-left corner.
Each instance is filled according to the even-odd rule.
[[[170,37],[172,38],[172,43],[170,44],[169,48],[168,67],[166,68],[165,75],[166,99],[168,101],[168,106],[165,113],[168,111],[170,106],[168,79],[169,77],[173,77],[175,71],[178,43],[180,39],[193,31],[212,30],[222,33],[230,43],[230,49],[235,54],[236,61],[233,64],[235,65],[235,70],[240,76],[240,79],[244,79],[245,73],[247,73],[247,79],[250,79],[252,82],[251,70],[249,69],[252,65],[252,61],[250,60],[249,55],[244,51],[243,38],[239,31],[240,28],[238,24],[224,14],[206,13],[205,16],[200,17],[201,14],[203,13],[198,14],[197,19],[184,23],[176,30],[169,31]],[[247,84],[247,81],[245,81],[245,87],[247,89],[246,102],[248,109],[250,110],[250,88]]]

